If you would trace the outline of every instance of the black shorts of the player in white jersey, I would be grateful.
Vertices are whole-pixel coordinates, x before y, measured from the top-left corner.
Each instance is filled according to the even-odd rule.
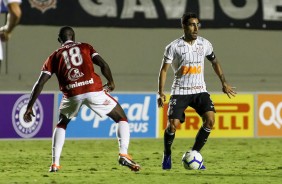
[[[207,92],[191,95],[172,95],[169,100],[168,118],[179,119],[181,123],[185,121],[185,109],[192,107],[202,116],[205,112],[215,112],[214,104]]]

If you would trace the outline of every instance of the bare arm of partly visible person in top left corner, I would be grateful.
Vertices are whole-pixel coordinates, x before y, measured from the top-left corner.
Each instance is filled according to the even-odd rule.
[[[20,4],[17,2],[8,4],[8,15],[6,25],[0,28],[1,37],[4,41],[7,41],[13,29],[19,23],[22,16]]]

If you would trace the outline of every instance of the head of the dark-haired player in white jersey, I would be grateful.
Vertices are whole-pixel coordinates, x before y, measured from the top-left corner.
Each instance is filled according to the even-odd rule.
[[[193,12],[184,13],[181,18],[181,25],[187,39],[197,39],[198,29],[200,27],[199,18]]]

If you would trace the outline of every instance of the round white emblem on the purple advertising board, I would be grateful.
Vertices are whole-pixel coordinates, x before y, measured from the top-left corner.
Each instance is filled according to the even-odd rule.
[[[29,95],[23,95],[15,102],[12,111],[12,124],[16,133],[22,138],[34,137],[43,124],[43,108],[39,100],[36,100],[33,105],[33,113],[31,122],[26,123],[23,119],[29,101]]]

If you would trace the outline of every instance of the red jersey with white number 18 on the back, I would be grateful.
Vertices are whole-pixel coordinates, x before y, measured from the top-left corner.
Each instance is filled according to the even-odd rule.
[[[66,98],[101,91],[102,80],[92,62],[96,55],[98,53],[87,43],[67,41],[46,59],[42,72],[56,74]]]

